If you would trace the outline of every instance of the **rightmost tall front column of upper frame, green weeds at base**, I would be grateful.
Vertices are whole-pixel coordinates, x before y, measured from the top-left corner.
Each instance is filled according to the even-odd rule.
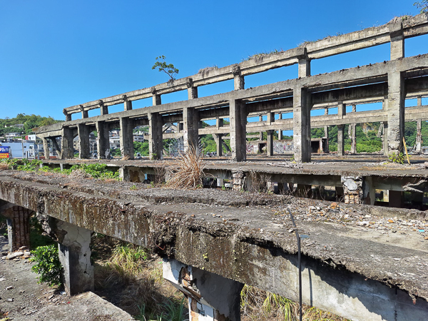
[[[399,72],[388,73],[388,147],[389,153],[403,151],[404,79]]]

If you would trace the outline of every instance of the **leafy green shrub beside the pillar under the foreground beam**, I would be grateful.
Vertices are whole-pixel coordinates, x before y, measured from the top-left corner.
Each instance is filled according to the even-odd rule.
[[[58,245],[39,246],[31,253],[34,255],[31,262],[36,262],[31,270],[40,275],[38,283],[46,282],[51,287],[62,285],[63,267],[59,262]]]

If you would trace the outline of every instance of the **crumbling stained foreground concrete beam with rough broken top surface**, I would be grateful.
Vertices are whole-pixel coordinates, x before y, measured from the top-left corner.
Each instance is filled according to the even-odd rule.
[[[51,180],[39,176],[40,183],[34,183],[11,175],[8,171],[0,173],[1,199],[90,230],[146,245],[186,265],[297,299],[297,248],[294,234],[288,232],[290,220],[282,212],[286,203],[293,204],[291,198],[272,196],[272,200],[280,200],[277,204],[285,205],[248,208],[246,203],[242,208],[224,205],[215,208],[203,204],[151,205],[128,200],[127,194],[131,191],[121,192],[123,188],[119,186],[130,186],[129,183],[101,183],[106,195],[101,197],[85,193],[82,182],[67,178]],[[88,186],[94,184],[97,185],[91,180]],[[151,192],[155,199],[158,191]],[[161,190],[159,192],[162,194]],[[164,194],[168,193],[166,190]],[[202,190],[200,193],[211,192]],[[220,203],[236,195],[225,192]],[[209,201],[209,197],[206,199]],[[302,204],[292,205],[293,211],[300,208]],[[342,208],[342,205],[340,208],[343,211],[338,213],[346,213],[350,218],[357,209],[352,206]],[[368,205],[361,208],[371,215],[377,209]],[[379,210],[384,215],[383,208]],[[427,220],[424,213],[409,211],[405,214],[401,211],[403,215],[419,213],[422,215],[419,218]],[[307,221],[306,213],[297,216],[300,233],[310,235],[302,242],[304,302],[353,320],[408,320],[409,313],[413,320],[424,320],[418,313],[426,315],[428,309],[428,254],[417,232],[384,235],[377,230],[360,228],[360,225],[347,226],[347,219],[322,223],[322,220]],[[206,258],[205,253],[208,253]],[[416,298],[415,305],[406,292]],[[352,304],[348,301],[351,297]],[[373,303],[379,300],[382,304]],[[346,310],[335,302],[346,302]],[[394,314],[397,315],[395,319]]]

